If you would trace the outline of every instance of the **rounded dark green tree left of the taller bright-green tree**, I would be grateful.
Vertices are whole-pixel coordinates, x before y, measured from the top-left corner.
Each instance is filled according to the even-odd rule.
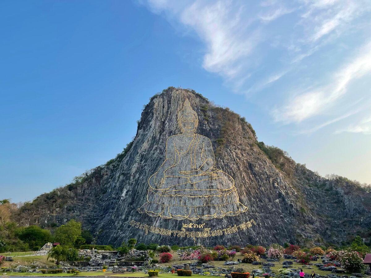
[[[43,246],[52,238],[49,230],[42,229],[38,226],[22,227],[16,234],[23,242],[28,243],[30,248]]]

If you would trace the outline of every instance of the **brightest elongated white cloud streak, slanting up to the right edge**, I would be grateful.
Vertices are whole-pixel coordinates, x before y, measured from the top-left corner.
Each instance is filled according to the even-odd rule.
[[[281,109],[273,111],[275,121],[301,122],[334,105],[337,99],[347,93],[349,83],[371,72],[371,42],[359,51],[353,62],[345,64],[336,72],[327,86],[318,87],[294,97]]]

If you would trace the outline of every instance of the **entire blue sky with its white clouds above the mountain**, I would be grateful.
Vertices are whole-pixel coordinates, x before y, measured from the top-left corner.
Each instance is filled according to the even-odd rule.
[[[370,1],[3,2],[0,198],[114,158],[168,86],[321,175],[371,183],[370,18]]]

